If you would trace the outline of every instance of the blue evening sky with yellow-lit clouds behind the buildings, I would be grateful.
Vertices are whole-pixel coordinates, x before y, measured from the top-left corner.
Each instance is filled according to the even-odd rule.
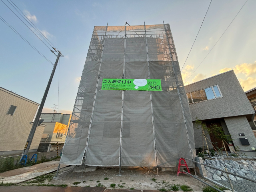
[[[8,3],[10,0],[2,1],[20,16]],[[0,16],[54,63],[56,56],[2,1]],[[144,21],[148,25],[162,24],[164,20],[170,24],[182,68],[210,4],[210,0],[12,2],[64,55],[60,58],[43,110],[53,112],[55,104],[61,113],[72,113],[94,26],[106,26],[107,23],[109,26],[123,26],[125,22],[143,25]],[[245,2],[212,0],[182,70],[185,84],[233,69],[244,91],[256,87],[256,1],[248,0],[236,16]],[[0,20],[0,87],[40,103],[52,67]]]

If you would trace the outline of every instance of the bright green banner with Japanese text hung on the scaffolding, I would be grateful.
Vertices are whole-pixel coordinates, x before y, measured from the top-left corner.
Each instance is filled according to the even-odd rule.
[[[102,90],[162,91],[160,79],[103,79]]]

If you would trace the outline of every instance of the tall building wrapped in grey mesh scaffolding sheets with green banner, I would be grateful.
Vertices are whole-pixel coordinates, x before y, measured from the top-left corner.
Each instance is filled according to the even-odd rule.
[[[194,156],[169,24],[95,26],[60,163],[177,167]]]

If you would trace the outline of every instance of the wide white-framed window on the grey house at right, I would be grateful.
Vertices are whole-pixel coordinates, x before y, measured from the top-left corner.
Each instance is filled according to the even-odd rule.
[[[215,85],[202,90],[187,93],[187,97],[189,103],[196,103],[222,97],[222,94],[218,85]]]

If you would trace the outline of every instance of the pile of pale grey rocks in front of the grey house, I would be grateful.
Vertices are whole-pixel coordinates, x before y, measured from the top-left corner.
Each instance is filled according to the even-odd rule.
[[[256,180],[256,161],[255,160],[245,161],[241,159],[241,160],[235,161],[235,160],[222,160],[222,159],[212,159],[212,160],[205,159],[204,163],[206,165],[210,165],[221,170],[225,170],[225,168],[227,168],[229,172]],[[205,169],[206,169],[207,177],[212,180],[216,180],[216,181],[228,180],[227,174],[224,172],[221,172],[206,166],[205,166]],[[233,175],[229,175],[229,178],[232,181],[244,180],[240,177],[236,177]]]

